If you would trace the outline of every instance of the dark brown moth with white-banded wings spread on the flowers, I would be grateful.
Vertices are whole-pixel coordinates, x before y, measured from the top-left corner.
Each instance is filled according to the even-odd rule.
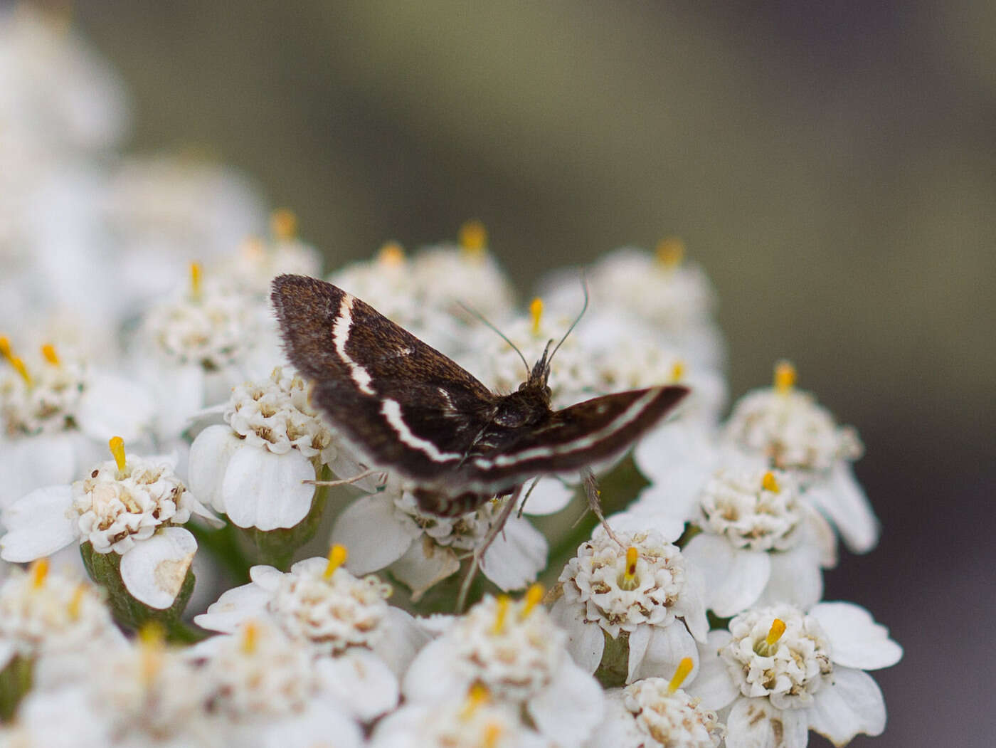
[[[554,410],[550,344],[516,391],[499,394],[331,283],[282,275],[271,298],[288,359],[313,380],[312,401],[370,465],[409,479],[435,515],[617,456],[688,392],[654,386]]]

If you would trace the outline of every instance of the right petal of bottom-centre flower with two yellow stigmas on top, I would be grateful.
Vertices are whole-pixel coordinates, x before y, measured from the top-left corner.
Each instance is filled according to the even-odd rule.
[[[602,686],[564,657],[547,686],[526,703],[536,727],[560,745],[580,745],[605,713]]]

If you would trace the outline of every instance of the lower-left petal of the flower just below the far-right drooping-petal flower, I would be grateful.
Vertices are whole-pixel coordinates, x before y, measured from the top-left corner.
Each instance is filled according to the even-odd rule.
[[[768,554],[736,549],[718,535],[696,535],[681,555],[702,572],[706,606],[724,619],[750,608],[771,573]]]

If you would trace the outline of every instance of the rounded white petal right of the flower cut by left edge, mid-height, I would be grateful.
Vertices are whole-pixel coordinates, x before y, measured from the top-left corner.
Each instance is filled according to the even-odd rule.
[[[89,436],[107,441],[137,439],[151,425],[155,403],[144,387],[113,374],[94,374],[80,397],[76,417]]]

